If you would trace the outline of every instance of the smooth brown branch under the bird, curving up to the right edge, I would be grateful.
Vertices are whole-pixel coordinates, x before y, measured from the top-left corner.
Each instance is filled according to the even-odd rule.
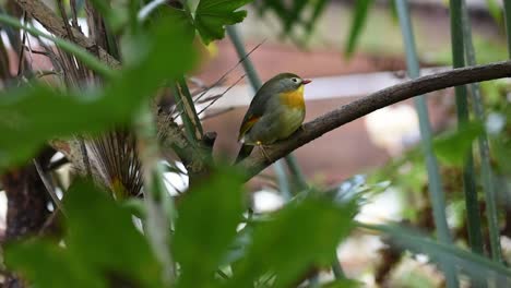
[[[324,133],[389,105],[433,91],[509,76],[511,76],[511,61],[503,61],[485,65],[453,69],[390,86],[347,105],[343,105],[304,124],[304,129],[295,132],[289,139],[265,148],[268,158],[258,149],[257,153],[252,153],[250,157],[240,161],[238,166],[245,168],[248,171],[247,177],[251,178],[275,160],[314,139],[320,137]]]

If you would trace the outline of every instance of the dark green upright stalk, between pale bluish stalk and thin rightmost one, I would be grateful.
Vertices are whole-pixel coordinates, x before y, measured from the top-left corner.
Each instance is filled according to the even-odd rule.
[[[454,68],[465,65],[465,45],[463,38],[462,0],[451,0],[451,41],[452,62]],[[456,115],[459,128],[468,124],[468,101],[466,86],[454,87],[456,97]],[[483,236],[480,228],[479,203],[474,173],[474,157],[472,146],[466,155],[463,166],[463,190],[465,192],[466,221],[468,229],[468,242],[472,251],[483,253]]]

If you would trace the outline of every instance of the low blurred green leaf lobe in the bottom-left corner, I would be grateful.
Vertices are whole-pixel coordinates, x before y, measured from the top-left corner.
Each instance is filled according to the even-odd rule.
[[[63,248],[45,240],[5,247],[5,264],[39,288],[106,288],[106,281]]]

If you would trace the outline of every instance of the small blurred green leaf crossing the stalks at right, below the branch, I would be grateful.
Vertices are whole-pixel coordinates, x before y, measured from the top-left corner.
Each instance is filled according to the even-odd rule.
[[[435,140],[433,148],[438,158],[449,165],[463,165],[471,152],[472,142],[483,133],[479,122],[472,122]]]

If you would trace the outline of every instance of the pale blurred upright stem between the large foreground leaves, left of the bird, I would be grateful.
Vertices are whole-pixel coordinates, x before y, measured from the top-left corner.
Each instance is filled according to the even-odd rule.
[[[144,201],[147,207],[144,227],[154,254],[164,268],[163,280],[170,286],[176,273],[169,248],[170,220],[175,217],[175,209],[173,199],[165,188],[163,169],[159,165],[157,131],[148,107],[147,103],[134,122],[144,179]]]

